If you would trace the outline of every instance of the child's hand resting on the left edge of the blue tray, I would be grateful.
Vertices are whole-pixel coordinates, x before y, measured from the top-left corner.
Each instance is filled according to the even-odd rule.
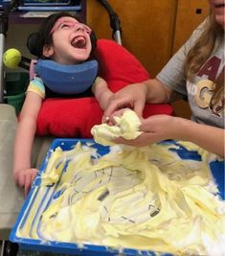
[[[19,187],[24,188],[25,198],[28,196],[28,193],[32,187],[32,184],[37,172],[38,172],[37,169],[31,168],[31,169],[19,170],[13,174],[15,183]]]

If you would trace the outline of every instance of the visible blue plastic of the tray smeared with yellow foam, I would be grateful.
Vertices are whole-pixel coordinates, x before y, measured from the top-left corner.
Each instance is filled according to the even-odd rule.
[[[47,153],[47,156],[43,162],[43,165],[40,168],[40,174],[45,171],[45,168],[47,166],[47,162],[49,159],[49,156],[51,155],[52,151],[56,149],[56,147],[60,147],[63,151],[71,150],[77,143],[80,141],[82,144],[86,143],[93,143],[92,147],[96,148],[101,155],[107,153],[109,151],[108,147],[101,146],[99,144],[95,144],[93,140],[86,140],[86,139],[56,139],[53,141],[50,150]],[[164,142],[167,143],[167,142]],[[169,142],[171,143],[171,141]],[[180,147],[178,150],[172,149],[172,151],[177,151],[177,153],[183,158],[183,159],[194,159],[196,161],[201,161],[200,155],[196,151],[187,151],[185,148]],[[211,169],[214,174],[215,182],[218,184],[220,197],[225,198],[225,192],[224,192],[224,161],[218,162],[214,161],[211,163]],[[36,179],[34,180],[34,185],[38,186],[39,183],[39,177],[37,175]],[[19,223],[24,218],[24,221],[27,221],[26,212],[29,211],[28,206],[32,205],[31,198],[34,193],[34,186],[29,194],[29,197],[26,199],[20,214],[18,216],[18,219],[13,226],[11,230],[10,240],[13,243],[18,243],[22,249],[25,250],[38,250],[38,251],[51,251],[56,253],[65,253],[65,254],[76,254],[76,255],[91,255],[91,256],[101,256],[101,255],[119,255],[120,253],[123,253],[123,255],[151,255],[156,256],[159,255],[159,252],[154,251],[137,251],[135,249],[129,249],[124,248],[123,250],[117,250],[113,248],[109,248],[102,245],[90,245],[90,244],[84,244],[82,248],[79,247],[78,244],[71,244],[71,243],[56,243],[56,242],[43,242],[41,240],[34,240],[34,239],[25,239],[25,238],[19,238],[16,236],[16,231],[19,229]],[[43,195],[43,201],[45,200],[45,195]],[[38,211],[38,209],[37,209]],[[161,256],[172,256],[170,253],[161,253]]]

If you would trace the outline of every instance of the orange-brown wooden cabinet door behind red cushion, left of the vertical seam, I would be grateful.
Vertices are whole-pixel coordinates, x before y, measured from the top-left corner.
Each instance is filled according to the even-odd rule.
[[[108,0],[121,18],[123,45],[154,77],[169,60],[174,30],[175,0]],[[162,4],[163,3],[163,4]],[[99,38],[111,38],[107,12],[87,0],[87,23]]]

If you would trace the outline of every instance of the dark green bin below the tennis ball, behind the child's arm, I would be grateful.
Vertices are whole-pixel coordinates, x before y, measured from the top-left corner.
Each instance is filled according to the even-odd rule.
[[[23,106],[28,83],[28,73],[17,72],[6,74],[5,102],[14,106],[17,115]]]

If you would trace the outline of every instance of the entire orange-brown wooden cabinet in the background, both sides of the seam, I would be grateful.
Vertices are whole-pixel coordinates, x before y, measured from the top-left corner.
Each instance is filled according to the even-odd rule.
[[[122,21],[123,45],[151,77],[189,38],[209,12],[206,0],[108,0]],[[199,13],[200,12],[200,13]],[[86,0],[87,23],[99,38],[111,38],[107,12],[97,0]],[[173,104],[178,116],[189,118],[188,103]]]

